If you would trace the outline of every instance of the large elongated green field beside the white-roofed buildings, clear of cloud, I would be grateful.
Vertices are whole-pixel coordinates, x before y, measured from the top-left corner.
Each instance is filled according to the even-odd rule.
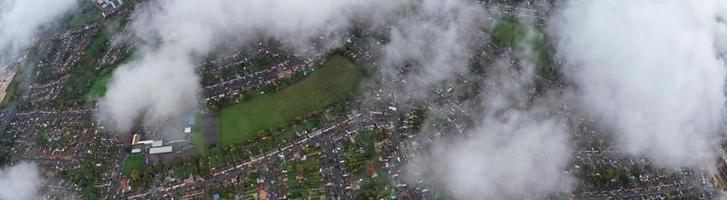
[[[251,142],[261,130],[275,129],[356,92],[361,71],[345,57],[334,56],[305,80],[274,94],[224,108],[220,114],[222,146]]]

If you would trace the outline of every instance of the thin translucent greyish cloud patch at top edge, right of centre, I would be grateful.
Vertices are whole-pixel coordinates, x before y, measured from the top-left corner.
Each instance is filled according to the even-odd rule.
[[[485,7],[474,1],[424,0],[417,6],[392,26],[381,58],[382,70],[396,78],[400,67],[413,66],[402,77],[405,91],[421,91],[465,72],[469,46],[477,34],[484,35],[482,26],[489,23]]]

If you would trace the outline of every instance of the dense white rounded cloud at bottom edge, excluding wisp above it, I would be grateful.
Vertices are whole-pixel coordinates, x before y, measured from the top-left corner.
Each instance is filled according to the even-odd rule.
[[[567,128],[531,111],[487,117],[470,135],[438,142],[410,170],[457,199],[513,199],[568,192]]]

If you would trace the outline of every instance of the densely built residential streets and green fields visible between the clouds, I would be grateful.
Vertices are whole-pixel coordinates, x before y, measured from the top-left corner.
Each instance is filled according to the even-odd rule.
[[[0,77],[0,163],[37,163],[43,198],[446,199],[427,175],[407,174],[407,164],[414,152],[474,126],[479,110],[469,104],[486,82],[464,73],[485,76],[495,58],[516,53],[521,31],[542,30],[549,14],[481,2],[506,17],[470,30],[483,35],[469,41],[477,47],[470,68],[462,79],[427,85],[426,100],[392,89],[407,83],[377,71],[387,38],[365,24],[320,36],[306,53],[275,39],[241,44],[198,63],[200,109],[179,129],[138,123],[118,132],[96,113],[114,70],[135,59],[135,46],[113,39],[140,3],[83,1]],[[343,44],[329,49],[329,37]],[[536,51],[538,87],[564,89],[558,59]],[[727,189],[725,151],[716,176],[655,168],[613,148],[592,119],[568,119],[575,151],[563,173],[578,180],[556,198],[713,199]]]

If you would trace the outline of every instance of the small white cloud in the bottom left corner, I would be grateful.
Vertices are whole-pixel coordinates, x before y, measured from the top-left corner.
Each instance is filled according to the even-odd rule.
[[[34,199],[42,181],[38,166],[32,163],[0,169],[0,199]]]

